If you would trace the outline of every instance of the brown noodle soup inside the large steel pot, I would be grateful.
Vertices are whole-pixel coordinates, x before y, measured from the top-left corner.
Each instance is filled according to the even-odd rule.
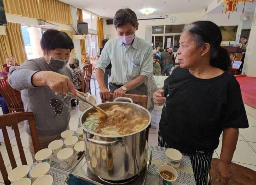
[[[131,108],[113,105],[104,111],[106,118],[99,117],[98,112],[89,113],[84,127],[94,133],[116,136],[139,131],[148,124],[147,117]]]

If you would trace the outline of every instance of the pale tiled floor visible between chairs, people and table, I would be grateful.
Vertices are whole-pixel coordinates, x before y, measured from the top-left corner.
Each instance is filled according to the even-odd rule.
[[[93,82],[91,83],[93,84]],[[92,86],[92,94],[94,93],[94,85]],[[97,89],[97,100],[98,103],[101,103],[100,96],[99,96],[99,89]],[[254,171],[256,171],[256,109],[245,105],[247,117],[249,120],[250,127],[247,129],[240,129],[239,130],[239,138],[238,143],[236,146],[236,151],[233,156],[233,162],[248,167]],[[152,111],[152,127],[149,129],[149,144],[150,145],[157,145],[157,138],[158,138],[158,128],[159,128],[159,120],[161,116],[162,107],[155,106],[154,110]],[[2,114],[2,109],[0,109],[0,115]],[[78,110],[78,107],[72,109],[71,112],[71,119],[69,122],[70,129],[76,130],[78,128],[78,117],[81,115],[81,112]],[[24,123],[21,122],[19,124],[20,136],[22,140],[22,144],[24,147],[24,152],[26,155],[26,159],[28,165],[32,164],[32,157],[28,149],[28,139],[27,134],[24,131]],[[14,136],[14,131],[11,128],[7,128],[9,138],[11,141],[12,149],[14,151],[14,157],[16,159],[17,165],[21,165],[20,155],[18,152],[18,147],[16,143],[16,139]],[[5,148],[4,139],[2,136],[2,132],[0,132],[0,151],[3,156],[5,166],[7,171],[11,171],[10,161],[8,159],[8,154]],[[220,144],[218,148],[215,150],[213,157],[219,158],[221,145],[222,145],[222,135],[220,136]],[[0,174],[0,184],[3,184],[2,175]]]

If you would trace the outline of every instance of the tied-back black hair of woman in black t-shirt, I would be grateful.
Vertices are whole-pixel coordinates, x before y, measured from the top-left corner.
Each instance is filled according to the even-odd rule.
[[[222,35],[220,28],[211,21],[196,21],[188,25],[184,31],[193,35],[197,47],[210,44],[211,56],[210,64],[223,71],[231,69],[231,61],[228,51],[221,47]]]

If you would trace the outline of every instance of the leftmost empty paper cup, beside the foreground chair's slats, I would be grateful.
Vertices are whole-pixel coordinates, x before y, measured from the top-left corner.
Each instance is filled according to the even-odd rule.
[[[10,174],[8,175],[8,179],[9,181],[11,181],[11,183],[13,183],[22,178],[27,178],[28,172],[29,172],[28,165],[22,165],[22,166],[16,167],[10,172]]]

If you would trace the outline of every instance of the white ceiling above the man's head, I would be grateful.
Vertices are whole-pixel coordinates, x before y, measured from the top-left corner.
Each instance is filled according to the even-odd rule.
[[[91,11],[103,18],[113,18],[120,8],[129,7],[138,17],[145,16],[140,11],[153,8],[151,15],[201,12],[213,0],[60,0],[78,8]]]

